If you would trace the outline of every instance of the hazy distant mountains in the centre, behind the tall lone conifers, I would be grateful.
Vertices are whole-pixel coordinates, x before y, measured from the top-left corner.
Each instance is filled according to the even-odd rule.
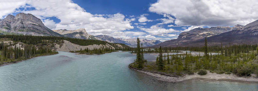
[[[102,39],[103,41],[111,42],[111,43],[122,43],[126,44],[130,47],[136,47],[136,40],[137,39],[119,39],[113,38],[108,35],[97,35],[96,37]],[[143,46],[152,46],[161,43],[159,40],[147,40],[147,39],[140,39],[140,43],[143,43]]]

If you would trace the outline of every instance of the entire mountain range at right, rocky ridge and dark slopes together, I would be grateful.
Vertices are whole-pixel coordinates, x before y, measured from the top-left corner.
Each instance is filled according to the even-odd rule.
[[[245,26],[196,28],[182,32],[177,39],[168,40],[151,47],[158,46],[203,46],[207,37],[208,45],[257,44],[258,20]]]

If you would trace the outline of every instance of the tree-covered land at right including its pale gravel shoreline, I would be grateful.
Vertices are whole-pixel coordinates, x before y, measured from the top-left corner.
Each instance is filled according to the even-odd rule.
[[[156,62],[144,59],[143,47],[137,39],[136,59],[129,68],[143,72],[167,82],[180,82],[188,79],[216,79],[258,82],[258,46],[232,45],[229,46],[177,47],[173,49],[189,49],[184,54],[169,55],[164,53],[166,48],[159,47]],[[204,55],[192,55],[191,50],[204,52]],[[215,53],[209,53],[212,51]],[[163,55],[164,53],[164,55]],[[166,55],[167,54],[167,55]]]

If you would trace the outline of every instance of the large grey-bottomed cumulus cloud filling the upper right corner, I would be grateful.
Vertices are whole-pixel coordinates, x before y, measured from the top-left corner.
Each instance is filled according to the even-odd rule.
[[[173,15],[176,25],[246,25],[258,19],[257,0],[158,0],[149,11]]]

